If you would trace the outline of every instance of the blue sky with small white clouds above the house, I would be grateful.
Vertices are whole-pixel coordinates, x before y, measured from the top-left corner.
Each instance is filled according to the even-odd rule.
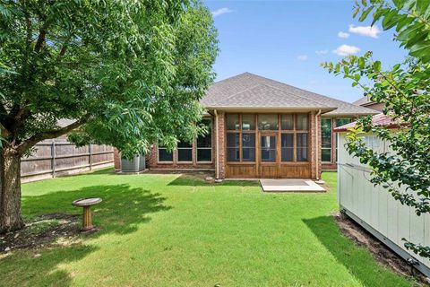
[[[320,64],[368,50],[389,66],[406,52],[392,31],[369,27],[352,18],[353,1],[207,0],[219,30],[217,81],[250,72],[352,102],[363,91]],[[352,26],[351,26],[352,25]],[[339,55],[340,54],[340,55]]]

